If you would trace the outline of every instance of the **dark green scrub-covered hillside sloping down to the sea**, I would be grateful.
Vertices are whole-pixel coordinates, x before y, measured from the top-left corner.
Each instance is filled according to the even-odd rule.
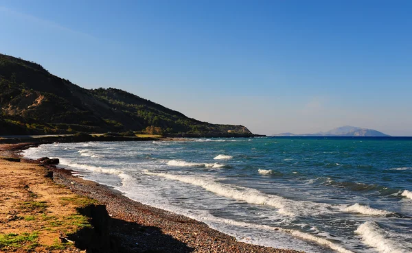
[[[169,136],[252,136],[242,125],[186,117],[116,88],[87,90],[40,64],[0,54],[0,134],[146,130]]]

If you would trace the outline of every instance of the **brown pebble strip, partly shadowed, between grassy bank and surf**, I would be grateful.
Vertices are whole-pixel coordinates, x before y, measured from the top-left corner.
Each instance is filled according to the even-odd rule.
[[[36,145],[1,145],[0,152],[3,156],[18,157],[23,149]],[[55,184],[64,185],[73,193],[91,197],[105,206],[111,220],[107,229],[112,244],[114,248],[122,249],[108,252],[297,252],[239,242],[201,221],[141,204],[111,186],[73,176],[72,170],[53,165],[45,165],[45,169],[52,171]]]

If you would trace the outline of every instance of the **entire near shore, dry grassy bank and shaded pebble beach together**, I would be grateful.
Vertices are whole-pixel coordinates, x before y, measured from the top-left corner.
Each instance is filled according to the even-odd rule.
[[[18,157],[19,150],[32,145],[0,147],[3,252],[296,252],[238,242],[203,222],[135,202],[70,170]],[[68,218],[78,222],[65,222]],[[10,234],[25,238],[15,245],[4,240]]]

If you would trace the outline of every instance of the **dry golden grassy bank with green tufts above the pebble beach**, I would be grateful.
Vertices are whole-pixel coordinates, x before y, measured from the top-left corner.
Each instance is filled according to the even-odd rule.
[[[89,218],[76,208],[97,204],[45,178],[38,165],[0,159],[0,252],[69,252],[60,238]]]

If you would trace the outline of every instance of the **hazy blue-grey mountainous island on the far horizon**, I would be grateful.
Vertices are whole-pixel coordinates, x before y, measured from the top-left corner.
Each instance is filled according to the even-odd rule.
[[[275,136],[365,136],[365,137],[382,137],[382,136],[389,136],[382,132],[367,129],[367,128],[357,128],[350,125],[344,125],[340,128],[334,128],[328,132],[317,132],[314,134],[292,134],[282,133],[282,134],[274,134]]]

